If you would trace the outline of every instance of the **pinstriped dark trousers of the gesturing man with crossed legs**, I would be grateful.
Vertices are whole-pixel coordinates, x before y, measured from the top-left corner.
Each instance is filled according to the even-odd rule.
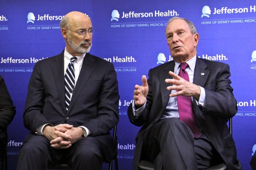
[[[202,132],[194,138],[186,124],[177,118],[155,123],[143,136],[142,155],[157,170],[198,170],[223,162]]]

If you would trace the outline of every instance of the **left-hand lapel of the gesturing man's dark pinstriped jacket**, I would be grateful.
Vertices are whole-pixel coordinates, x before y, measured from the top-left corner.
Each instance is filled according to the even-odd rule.
[[[162,101],[163,101],[163,108],[166,108],[168,102],[169,102],[169,94],[171,93],[171,91],[168,91],[166,88],[168,86],[171,86],[172,84],[169,83],[165,83],[165,79],[166,78],[170,78],[172,79],[173,77],[171,77],[169,75],[169,71],[174,71],[174,66],[175,66],[175,62],[171,61],[170,64],[166,65],[163,69],[164,71],[159,73],[159,78],[160,78],[160,89],[161,89],[161,96],[162,96]]]

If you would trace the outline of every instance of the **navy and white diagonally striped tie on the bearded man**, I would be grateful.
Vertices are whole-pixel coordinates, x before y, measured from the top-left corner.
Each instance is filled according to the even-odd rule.
[[[70,93],[72,93],[75,86],[75,71],[74,71],[74,61],[76,57],[70,58],[70,63],[68,64],[66,73],[65,73],[65,103],[66,110],[68,110],[70,103]]]

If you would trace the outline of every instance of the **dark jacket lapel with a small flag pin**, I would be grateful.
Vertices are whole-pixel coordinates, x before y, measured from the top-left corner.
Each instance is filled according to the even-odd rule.
[[[205,62],[200,59],[200,58],[196,58],[196,66],[195,66],[195,72],[194,72],[194,80],[193,83],[204,87],[205,82],[209,76],[210,71],[207,70],[208,66],[205,64]]]

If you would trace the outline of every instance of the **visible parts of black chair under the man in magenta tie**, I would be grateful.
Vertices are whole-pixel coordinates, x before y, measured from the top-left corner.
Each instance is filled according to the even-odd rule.
[[[229,131],[232,134],[232,118],[229,119]],[[209,167],[205,170],[225,170],[227,169],[227,165],[225,163],[221,163],[212,167]],[[154,170],[154,164],[148,160],[141,160],[138,165],[138,170]]]

